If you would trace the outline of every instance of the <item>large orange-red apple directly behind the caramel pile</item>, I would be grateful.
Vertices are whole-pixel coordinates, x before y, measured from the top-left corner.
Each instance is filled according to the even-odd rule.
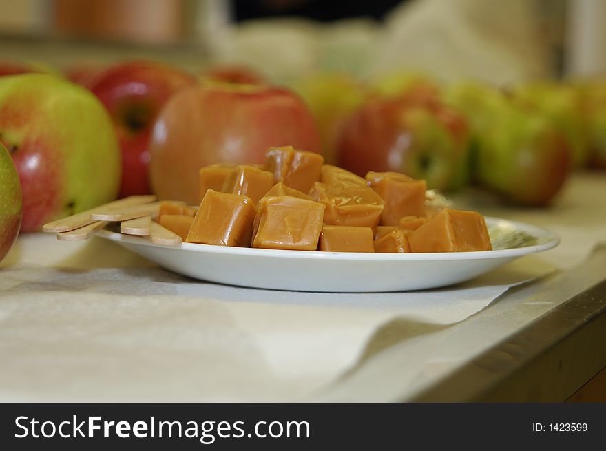
[[[271,146],[318,151],[311,113],[290,90],[203,83],[175,94],[151,138],[149,174],[160,199],[198,204],[198,170],[215,163],[262,163]]]

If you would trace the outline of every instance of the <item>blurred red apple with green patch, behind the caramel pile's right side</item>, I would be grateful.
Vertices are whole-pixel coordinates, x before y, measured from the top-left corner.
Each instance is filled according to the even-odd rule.
[[[347,121],[337,162],[359,175],[397,171],[444,191],[468,177],[468,125],[436,98],[371,98]]]

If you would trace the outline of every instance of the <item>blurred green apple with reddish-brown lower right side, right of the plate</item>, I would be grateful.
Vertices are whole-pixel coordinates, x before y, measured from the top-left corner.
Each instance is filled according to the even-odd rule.
[[[456,85],[446,98],[470,118],[479,185],[529,206],[556,196],[572,167],[572,151],[552,116],[488,85]]]

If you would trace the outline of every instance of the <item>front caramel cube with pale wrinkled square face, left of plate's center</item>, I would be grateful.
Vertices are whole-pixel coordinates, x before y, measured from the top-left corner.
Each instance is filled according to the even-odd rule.
[[[253,247],[315,251],[324,208],[313,200],[290,196],[262,198],[255,219]]]

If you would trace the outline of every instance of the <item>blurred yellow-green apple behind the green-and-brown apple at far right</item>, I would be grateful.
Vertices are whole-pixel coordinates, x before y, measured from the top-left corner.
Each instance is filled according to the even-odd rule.
[[[512,95],[516,100],[533,105],[554,120],[572,151],[574,167],[584,167],[587,164],[587,127],[581,95],[574,86],[547,81],[525,83],[517,86]]]

